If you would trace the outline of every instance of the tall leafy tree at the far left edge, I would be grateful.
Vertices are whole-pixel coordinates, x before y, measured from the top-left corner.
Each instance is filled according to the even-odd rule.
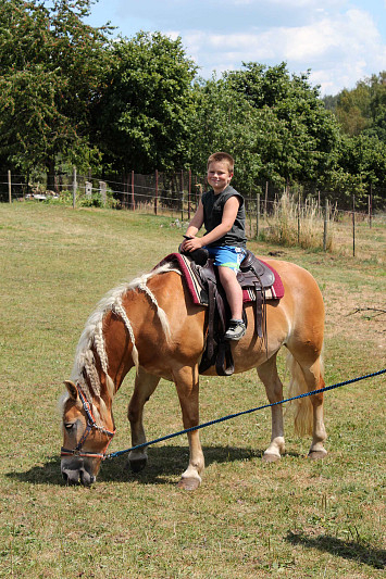
[[[107,66],[107,27],[83,23],[90,0],[0,0],[0,153],[27,169],[58,154],[89,163],[89,105]]]

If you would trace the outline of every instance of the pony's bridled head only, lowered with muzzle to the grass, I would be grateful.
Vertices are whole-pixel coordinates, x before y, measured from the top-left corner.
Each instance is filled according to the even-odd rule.
[[[112,414],[102,399],[99,403],[89,402],[79,383],[64,383],[67,394],[62,401],[62,476],[67,484],[90,486],[115,432]]]

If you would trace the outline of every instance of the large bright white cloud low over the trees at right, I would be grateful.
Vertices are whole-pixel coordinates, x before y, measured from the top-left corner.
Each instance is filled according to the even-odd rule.
[[[312,3],[313,0],[303,0]],[[371,15],[361,10],[319,18],[304,26],[274,27],[248,33],[183,34],[188,54],[202,66],[202,76],[239,68],[241,62],[267,65],[286,61],[289,72],[311,68],[311,80],[322,93],[351,88],[372,73],[384,70],[386,46]]]

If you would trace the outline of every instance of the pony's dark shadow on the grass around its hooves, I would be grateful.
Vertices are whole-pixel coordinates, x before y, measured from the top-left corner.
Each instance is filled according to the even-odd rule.
[[[259,458],[263,454],[262,450],[252,451],[235,446],[207,446],[202,450],[207,467],[213,463]],[[142,484],[171,484],[178,480],[189,460],[187,446],[154,446],[149,449],[148,454],[149,461],[146,468],[136,474],[132,473],[128,467],[126,455],[105,461],[101,465],[98,481],[130,482],[136,480]],[[59,456],[52,456],[45,464],[33,466],[25,471],[8,473],[7,477],[30,484],[64,484]]]

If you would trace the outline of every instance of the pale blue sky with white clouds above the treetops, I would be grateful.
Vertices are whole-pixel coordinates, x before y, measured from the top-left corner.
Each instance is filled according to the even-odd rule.
[[[88,23],[182,38],[209,78],[242,62],[311,70],[321,95],[386,70],[386,0],[99,0]]]

